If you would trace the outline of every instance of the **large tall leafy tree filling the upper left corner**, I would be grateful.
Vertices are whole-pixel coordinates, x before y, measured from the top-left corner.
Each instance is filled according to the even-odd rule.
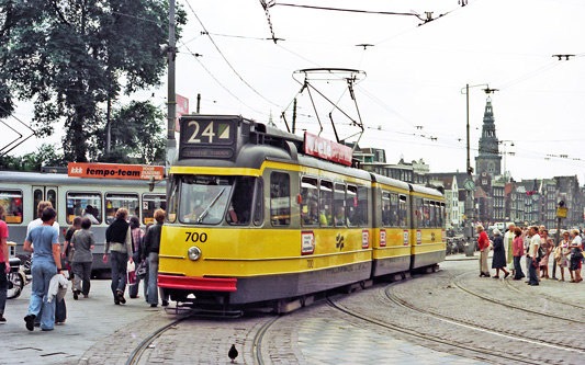
[[[179,37],[181,9],[176,21]],[[66,160],[87,161],[103,110],[122,93],[160,84],[164,43],[166,0],[0,0],[0,80],[8,85],[0,117],[14,98],[34,100],[37,136],[64,121]]]

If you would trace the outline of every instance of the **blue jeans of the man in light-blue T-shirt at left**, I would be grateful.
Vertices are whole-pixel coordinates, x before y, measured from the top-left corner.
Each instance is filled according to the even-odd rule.
[[[48,283],[57,273],[57,266],[54,262],[33,260],[31,273],[33,274],[33,292],[29,305],[29,315],[38,316],[41,309],[43,309],[41,329],[52,330],[55,327],[55,303],[57,300],[47,303],[47,293]]]

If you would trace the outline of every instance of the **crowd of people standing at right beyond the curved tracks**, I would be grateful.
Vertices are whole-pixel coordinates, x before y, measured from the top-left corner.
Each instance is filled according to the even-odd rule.
[[[495,269],[495,278],[499,278],[499,272],[504,278],[513,275],[514,281],[526,277],[526,283],[531,286],[539,285],[541,280],[550,278],[550,258],[561,271],[561,281],[565,281],[565,269],[571,274],[571,283],[583,281],[581,269],[585,262],[583,252],[585,242],[578,229],[562,232],[559,246],[549,237],[549,230],[544,226],[516,227],[509,224],[504,236],[496,228],[493,230],[493,240],[490,240],[482,225],[476,226],[477,246],[480,249],[480,277],[491,277],[487,266],[487,254],[493,250],[492,269]],[[526,254],[525,270],[521,258]]]

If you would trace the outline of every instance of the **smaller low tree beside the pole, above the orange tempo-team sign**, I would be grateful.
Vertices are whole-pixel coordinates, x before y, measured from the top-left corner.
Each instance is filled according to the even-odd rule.
[[[166,114],[149,102],[133,101],[113,111],[111,151],[105,153],[105,132],[94,135],[92,159],[101,162],[153,163],[165,160]]]

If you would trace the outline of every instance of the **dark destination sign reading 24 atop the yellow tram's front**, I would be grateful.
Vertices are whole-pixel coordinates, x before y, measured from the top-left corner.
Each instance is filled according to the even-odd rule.
[[[238,118],[193,117],[181,118],[180,158],[234,157]]]

